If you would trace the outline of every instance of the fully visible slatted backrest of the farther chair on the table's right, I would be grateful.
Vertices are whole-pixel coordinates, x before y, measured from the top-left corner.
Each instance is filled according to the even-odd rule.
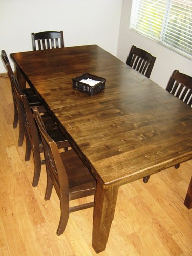
[[[142,75],[150,78],[155,60],[156,57],[152,56],[151,53],[133,45],[126,60],[126,64]]]

